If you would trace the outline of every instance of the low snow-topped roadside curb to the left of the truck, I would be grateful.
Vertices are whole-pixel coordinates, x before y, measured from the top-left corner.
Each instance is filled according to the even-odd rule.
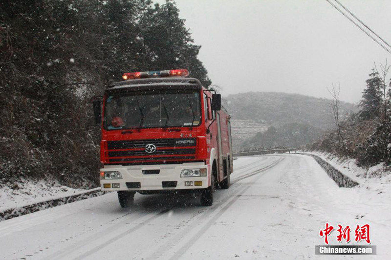
[[[17,207],[17,208],[5,209],[3,211],[0,211],[0,221],[9,220],[29,213],[37,212],[43,209],[53,208],[56,206],[72,203],[79,200],[86,200],[89,198],[98,197],[106,193],[107,192],[102,191],[101,188],[95,188],[75,195],[56,198],[52,200],[45,200],[30,205],[22,206],[22,207]]]

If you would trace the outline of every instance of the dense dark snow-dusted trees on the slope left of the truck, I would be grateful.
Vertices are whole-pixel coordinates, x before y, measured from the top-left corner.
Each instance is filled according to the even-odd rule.
[[[124,72],[187,68],[209,86],[178,13],[171,0],[1,1],[0,183],[92,185],[100,130],[88,100]]]

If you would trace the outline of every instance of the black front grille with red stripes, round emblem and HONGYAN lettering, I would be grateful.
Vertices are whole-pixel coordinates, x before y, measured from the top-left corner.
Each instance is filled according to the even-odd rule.
[[[156,146],[156,151],[147,153],[148,144]],[[109,163],[120,164],[149,164],[169,163],[172,161],[195,160],[195,138],[185,139],[148,139],[108,141]]]

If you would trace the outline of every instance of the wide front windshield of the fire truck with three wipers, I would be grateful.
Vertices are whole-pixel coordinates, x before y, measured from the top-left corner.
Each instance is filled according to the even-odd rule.
[[[136,92],[110,95],[105,129],[197,126],[201,122],[199,92]]]

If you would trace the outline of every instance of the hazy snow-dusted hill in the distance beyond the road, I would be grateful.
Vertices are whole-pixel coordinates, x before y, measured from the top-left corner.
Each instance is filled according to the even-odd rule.
[[[236,152],[257,147],[305,145],[334,127],[332,110],[327,103],[331,100],[327,99],[278,92],[247,92],[229,95],[224,100],[232,116],[232,139]],[[357,105],[340,101],[341,119],[356,111]],[[273,136],[269,131],[262,135],[270,126],[275,127],[279,134]],[[269,140],[265,140],[265,136]],[[275,140],[270,140],[273,138]]]

